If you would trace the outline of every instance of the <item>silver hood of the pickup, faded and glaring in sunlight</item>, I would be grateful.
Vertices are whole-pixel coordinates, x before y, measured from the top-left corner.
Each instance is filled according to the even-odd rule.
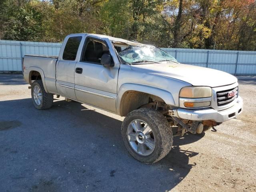
[[[180,63],[131,65],[132,70],[175,78],[193,86],[218,87],[237,82],[237,78],[223,71]]]

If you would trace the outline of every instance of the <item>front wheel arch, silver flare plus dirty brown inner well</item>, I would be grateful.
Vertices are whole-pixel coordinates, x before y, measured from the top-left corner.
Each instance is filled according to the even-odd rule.
[[[174,99],[170,92],[155,87],[140,84],[123,84],[117,95],[116,110],[120,116],[126,116],[129,112],[138,109],[148,103],[148,98],[153,96],[165,104],[175,106]]]

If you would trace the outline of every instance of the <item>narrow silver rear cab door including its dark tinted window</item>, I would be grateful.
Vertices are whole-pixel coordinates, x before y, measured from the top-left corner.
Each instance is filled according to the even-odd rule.
[[[83,34],[69,35],[65,38],[63,42],[65,47],[60,50],[59,62],[56,66],[56,88],[58,94],[72,99],[76,99],[74,70],[82,38]]]

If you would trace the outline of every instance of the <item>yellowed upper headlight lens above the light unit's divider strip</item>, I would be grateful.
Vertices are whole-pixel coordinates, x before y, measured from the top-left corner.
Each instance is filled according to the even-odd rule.
[[[184,87],[180,90],[180,97],[183,98],[206,98],[212,96],[210,87]]]

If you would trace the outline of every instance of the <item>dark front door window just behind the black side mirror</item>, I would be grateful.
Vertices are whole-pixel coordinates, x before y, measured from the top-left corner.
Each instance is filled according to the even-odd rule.
[[[105,42],[93,38],[87,38],[84,43],[81,62],[93,62],[100,64],[100,59],[105,53],[110,54]]]

